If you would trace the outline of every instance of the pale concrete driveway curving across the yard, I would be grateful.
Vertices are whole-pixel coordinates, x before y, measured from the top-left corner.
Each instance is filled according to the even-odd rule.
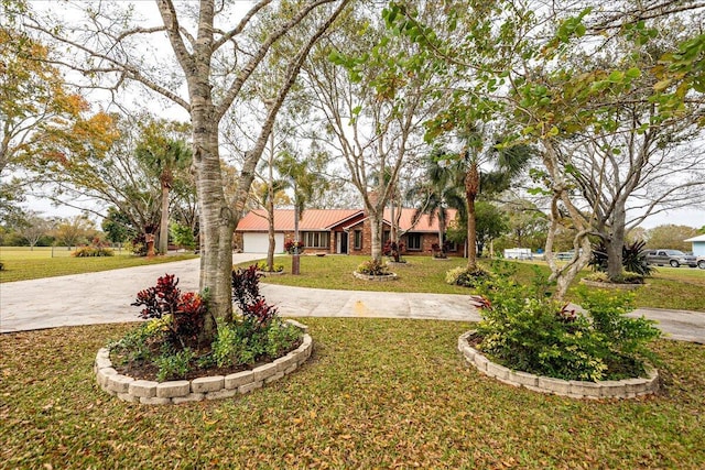
[[[236,254],[234,262],[260,259]],[[137,321],[130,307],[138,291],[164,273],[176,274],[182,291],[198,289],[199,260],[128,267],[100,273],[46,277],[0,284],[0,332],[61,326]],[[262,284],[268,302],[286,317],[414,318],[477,321],[479,315],[465,295],[402,294]],[[670,338],[705,343],[705,313],[640,308],[659,321]]]

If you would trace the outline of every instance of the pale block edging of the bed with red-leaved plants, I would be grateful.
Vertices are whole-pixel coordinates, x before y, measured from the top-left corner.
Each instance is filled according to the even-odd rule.
[[[131,376],[119,374],[110,362],[110,351],[107,348],[100,348],[96,354],[94,373],[100,389],[129,403],[177,405],[203,400],[229,398],[237,394],[245,394],[260,389],[264,384],[292,373],[311,357],[313,339],[307,332],[308,327],[295,320],[286,320],[286,323],[303,330],[304,336],[301,346],[273,362],[249,371],[225,376],[204,376],[191,381],[180,380],[160,383],[134,380]]]

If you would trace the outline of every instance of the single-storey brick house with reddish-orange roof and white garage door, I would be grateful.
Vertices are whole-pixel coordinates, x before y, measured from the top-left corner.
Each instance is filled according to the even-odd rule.
[[[399,209],[397,209],[399,210]],[[401,209],[399,217],[400,241],[404,254],[430,254],[438,242],[438,218],[430,220],[427,215],[413,220],[415,209]],[[448,220],[456,211],[448,209]],[[391,211],[384,210],[382,243],[391,232]],[[269,247],[269,222],[267,211],[249,211],[235,230],[235,245],[246,253],[265,253]],[[372,232],[369,218],[362,209],[306,209],[299,221],[299,239],[306,253],[371,254]],[[274,210],[274,252],[284,251],[284,243],[294,240],[294,210]],[[451,245],[448,254],[462,255],[463,250]]]

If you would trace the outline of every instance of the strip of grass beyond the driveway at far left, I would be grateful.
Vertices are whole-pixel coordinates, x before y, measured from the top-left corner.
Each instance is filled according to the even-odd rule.
[[[61,252],[70,253],[69,251],[63,250]],[[195,258],[195,255],[177,254],[149,259],[133,255],[100,258],[56,255],[51,258],[51,251],[14,250],[2,247],[2,249],[0,249],[0,262],[4,264],[4,270],[0,271],[0,283],[63,276],[67,274],[93,273],[120,267],[141,266],[144,264],[169,263],[192,258]]]

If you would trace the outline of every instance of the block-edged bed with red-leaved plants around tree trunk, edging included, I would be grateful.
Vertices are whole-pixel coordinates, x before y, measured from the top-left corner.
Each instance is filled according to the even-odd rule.
[[[165,404],[246,393],[292,372],[311,354],[301,325],[282,321],[259,292],[257,265],[232,271],[231,319],[206,330],[208,296],[164,275],[133,306],[148,319],[100,350],[100,386],[130,402]]]

